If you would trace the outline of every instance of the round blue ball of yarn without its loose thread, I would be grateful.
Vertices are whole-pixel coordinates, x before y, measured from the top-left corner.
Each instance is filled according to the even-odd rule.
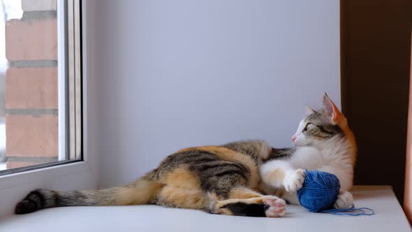
[[[310,212],[329,210],[337,200],[341,184],[336,175],[306,171],[302,188],[297,190],[300,205]]]

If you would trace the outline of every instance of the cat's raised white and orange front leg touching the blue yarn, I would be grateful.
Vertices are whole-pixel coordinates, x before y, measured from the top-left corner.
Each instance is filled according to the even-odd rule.
[[[305,172],[301,168],[293,168],[288,161],[272,160],[260,166],[260,176],[270,187],[284,187],[286,191],[294,192],[302,187]]]

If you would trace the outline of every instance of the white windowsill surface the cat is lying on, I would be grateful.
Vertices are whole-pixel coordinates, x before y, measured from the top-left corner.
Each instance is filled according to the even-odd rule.
[[[0,221],[0,231],[411,231],[388,186],[355,187],[355,205],[372,216],[337,216],[288,205],[286,217],[256,218],[210,215],[199,210],[156,205],[68,207],[15,215]]]

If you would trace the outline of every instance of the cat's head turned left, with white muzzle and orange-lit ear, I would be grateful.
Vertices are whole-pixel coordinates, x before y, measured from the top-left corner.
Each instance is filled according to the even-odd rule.
[[[307,108],[307,117],[300,121],[292,142],[296,147],[322,147],[328,141],[341,138],[356,147],[355,138],[348,127],[346,117],[339,111],[329,96],[323,96],[323,108],[312,110]]]

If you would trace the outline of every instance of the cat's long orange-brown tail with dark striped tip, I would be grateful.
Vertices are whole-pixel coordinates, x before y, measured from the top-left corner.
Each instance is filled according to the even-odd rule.
[[[142,205],[151,203],[163,184],[156,181],[155,171],[122,187],[90,191],[52,191],[36,189],[20,203],[18,215],[35,212],[43,208],[91,205]]]

